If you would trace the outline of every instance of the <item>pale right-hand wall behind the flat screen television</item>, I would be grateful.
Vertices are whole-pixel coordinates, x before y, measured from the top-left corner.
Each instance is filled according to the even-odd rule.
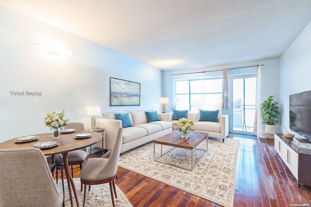
[[[311,90],[311,22],[280,58],[282,133],[289,130],[289,96]],[[298,134],[295,134],[299,137]]]

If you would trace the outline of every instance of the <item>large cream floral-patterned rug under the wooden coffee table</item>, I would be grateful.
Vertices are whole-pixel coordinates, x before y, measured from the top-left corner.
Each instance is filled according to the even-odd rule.
[[[171,148],[163,145],[163,152]],[[198,148],[206,149],[206,142],[201,143]],[[226,138],[223,143],[219,139],[208,138],[207,153],[198,161],[193,171],[188,171],[154,161],[153,143],[147,143],[123,153],[119,166],[213,203],[231,207],[238,149],[239,140]],[[155,145],[155,151],[160,152],[159,144]],[[201,151],[194,151],[194,159],[200,157],[198,152]],[[186,166],[190,162],[190,150],[174,148],[163,159],[175,165]]]

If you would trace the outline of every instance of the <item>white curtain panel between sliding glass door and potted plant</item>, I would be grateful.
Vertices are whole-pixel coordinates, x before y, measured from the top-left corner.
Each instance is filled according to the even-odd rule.
[[[258,65],[257,84],[256,84],[256,107],[255,107],[255,121],[254,121],[254,131],[257,131],[258,137],[262,137],[260,103],[261,103],[261,68],[260,65]]]

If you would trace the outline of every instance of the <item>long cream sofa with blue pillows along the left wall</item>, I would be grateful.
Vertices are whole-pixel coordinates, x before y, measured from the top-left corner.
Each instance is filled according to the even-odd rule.
[[[104,118],[96,120],[96,127],[105,128],[106,149],[111,150],[113,148],[117,131],[120,127],[122,127],[122,121],[118,120],[118,118],[120,118],[119,114],[122,114],[121,117],[126,117],[125,121],[123,119],[123,140],[121,144],[121,153],[171,133],[172,122],[163,120],[153,121],[156,119],[153,119],[154,117],[151,117],[150,114],[153,114],[154,116],[155,113],[157,114],[156,111],[104,113]],[[117,119],[115,114],[118,116]],[[128,120],[127,114],[130,120]],[[160,117],[158,116],[158,118]],[[127,126],[124,126],[124,124],[127,124]]]

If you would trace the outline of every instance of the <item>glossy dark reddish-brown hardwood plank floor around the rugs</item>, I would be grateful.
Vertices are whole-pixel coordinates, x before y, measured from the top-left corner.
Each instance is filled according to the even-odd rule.
[[[301,185],[276,154],[274,140],[230,134],[240,140],[234,191],[234,207],[311,206],[311,187]],[[92,157],[100,157],[96,153]],[[311,169],[310,169],[311,171]],[[124,168],[118,168],[116,184],[133,207],[219,207]],[[80,170],[75,166],[74,177]]]

